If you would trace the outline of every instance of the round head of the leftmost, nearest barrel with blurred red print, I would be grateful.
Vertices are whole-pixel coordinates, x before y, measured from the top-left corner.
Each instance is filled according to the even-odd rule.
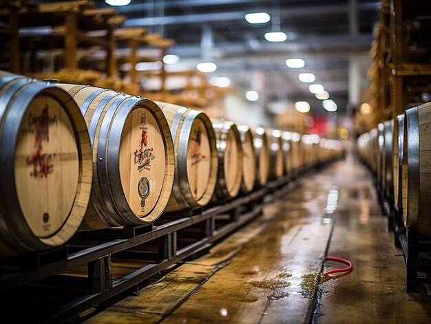
[[[74,204],[79,158],[69,116],[51,96],[37,96],[24,114],[14,161],[19,204],[36,237],[63,226]]]

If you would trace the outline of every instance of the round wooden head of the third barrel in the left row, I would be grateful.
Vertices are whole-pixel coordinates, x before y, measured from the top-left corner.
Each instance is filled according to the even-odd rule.
[[[211,171],[211,147],[207,128],[199,118],[193,121],[187,144],[187,178],[191,195],[197,201],[207,188]]]

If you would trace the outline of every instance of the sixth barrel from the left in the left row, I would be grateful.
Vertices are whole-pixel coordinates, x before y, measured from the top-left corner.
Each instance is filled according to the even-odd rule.
[[[264,186],[268,182],[269,177],[269,144],[263,127],[257,127],[256,129],[252,129],[252,131],[257,162],[257,184]]]

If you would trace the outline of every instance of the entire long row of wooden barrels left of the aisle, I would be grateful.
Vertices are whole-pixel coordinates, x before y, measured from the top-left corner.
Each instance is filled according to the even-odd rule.
[[[337,140],[0,72],[0,257],[220,204],[341,154]]]

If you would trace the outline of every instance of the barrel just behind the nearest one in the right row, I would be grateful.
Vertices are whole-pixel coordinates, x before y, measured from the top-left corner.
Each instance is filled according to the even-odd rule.
[[[403,142],[404,142],[404,114],[398,115],[392,132],[392,180],[394,184],[394,204],[398,210],[403,210],[402,182],[403,182]]]

